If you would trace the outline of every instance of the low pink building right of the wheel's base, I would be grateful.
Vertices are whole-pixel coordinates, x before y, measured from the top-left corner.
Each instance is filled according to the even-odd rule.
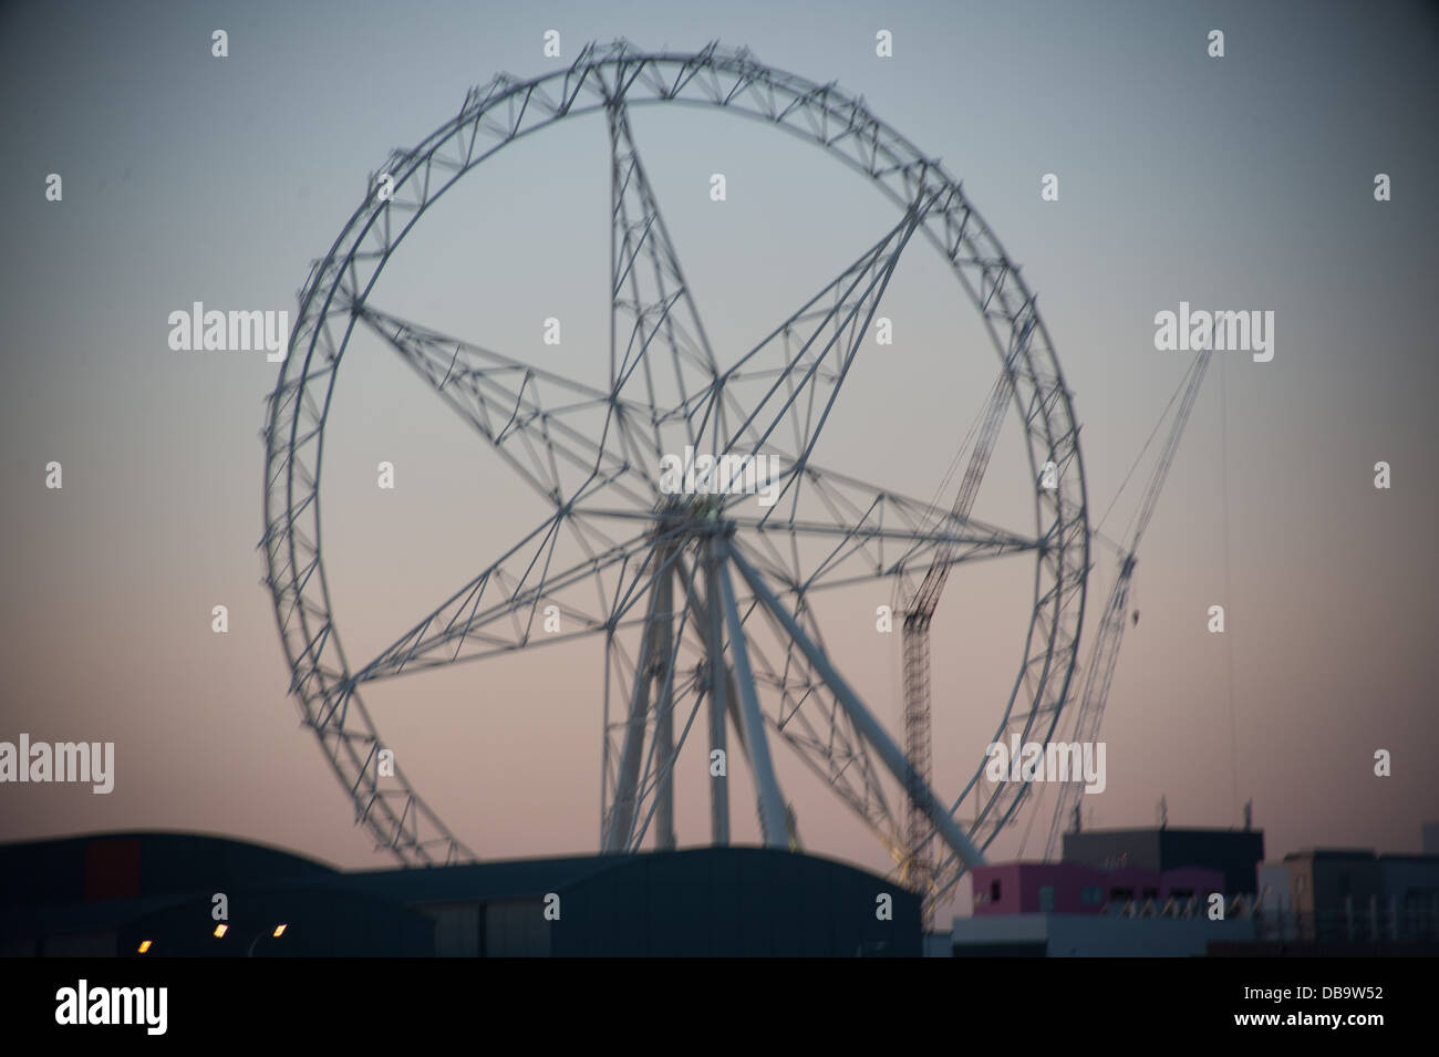
[[[1199,866],[1157,873],[1138,866],[1099,870],[1081,863],[1000,863],[971,870],[974,913],[1099,913],[1105,903],[1164,905],[1225,890],[1225,874]]]

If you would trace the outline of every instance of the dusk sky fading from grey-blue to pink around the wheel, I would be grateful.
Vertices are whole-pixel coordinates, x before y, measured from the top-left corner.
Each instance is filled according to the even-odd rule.
[[[1204,53],[1215,27],[1219,60]],[[230,58],[212,58],[213,29]],[[541,53],[547,29],[561,59]],[[878,29],[894,33],[892,59],[875,56]],[[108,797],[0,787],[0,840],[186,828],[383,861],[286,697],[260,584],[258,431],[278,368],[171,352],[165,321],[194,301],[294,314],[391,148],[499,69],[545,72],[614,37],[745,45],[863,95],[944,158],[1039,292],[1095,521],[1189,364],[1154,349],[1154,314],[1180,301],[1275,312],[1272,362],[1216,357],[1141,549],[1143,620],[1121,651],[1108,791],[1085,798],[1086,824],[1151,824],[1163,795],[1173,825],[1226,827],[1253,798],[1272,857],[1417,851],[1420,823],[1439,817],[1439,16],[1419,3],[4,6],[0,739],[114,741],[118,774]],[[717,345],[744,348],[894,223],[863,180],[773,129],[659,111],[635,127]],[[722,206],[707,194],[715,171]],[[63,175],[62,203],[45,200],[47,173]],[[1059,175],[1058,203],[1040,201],[1043,173]],[[1393,201],[1374,201],[1376,173]],[[555,315],[554,365],[603,377],[607,193],[599,119],[507,148],[404,243],[384,306],[534,357]],[[930,257],[905,259],[885,305],[896,344],[862,360],[826,436],[830,462],[922,498],[993,378],[973,309]],[[967,352],[941,354],[940,335]],[[347,354],[322,548],[351,657],[537,521],[437,407],[384,349]],[[400,467],[394,493],[374,488],[380,459]],[[60,492],[45,488],[49,460],[63,463]],[[1373,488],[1377,460],[1393,467],[1389,492]],[[1003,522],[1026,485],[1013,436],[991,473],[976,512]],[[1131,483],[1111,536],[1135,500]],[[1114,564],[1095,557],[1086,640]],[[934,626],[941,791],[973,771],[999,718],[1032,578],[1022,565],[950,580]],[[873,631],[884,601],[853,595],[826,639],[896,729],[899,636]],[[210,631],[219,603],[227,636]],[[1225,637],[1206,631],[1212,604],[1226,605]],[[599,657],[471,666],[371,708],[481,854],[593,850]],[[1380,748],[1390,778],[1373,775]],[[886,869],[780,755],[807,846]],[[704,779],[679,781],[684,825],[704,817]],[[744,787],[731,811],[737,840],[754,840]],[[704,838],[702,824],[681,831]]]

